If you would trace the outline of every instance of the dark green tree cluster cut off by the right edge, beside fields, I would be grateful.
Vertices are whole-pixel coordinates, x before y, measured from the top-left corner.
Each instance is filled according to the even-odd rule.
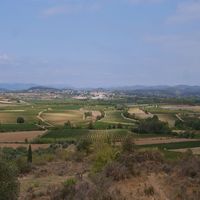
[[[184,118],[184,121],[176,120],[175,127],[178,129],[200,130],[200,119],[195,117]]]

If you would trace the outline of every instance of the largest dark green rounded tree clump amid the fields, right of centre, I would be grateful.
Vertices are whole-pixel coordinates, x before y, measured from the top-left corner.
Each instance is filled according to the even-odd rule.
[[[138,127],[134,129],[138,133],[168,134],[171,133],[168,123],[162,122],[158,116],[141,120]]]

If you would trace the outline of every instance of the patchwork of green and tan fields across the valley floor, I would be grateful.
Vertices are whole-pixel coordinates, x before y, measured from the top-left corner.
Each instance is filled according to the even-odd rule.
[[[104,117],[101,116],[102,110]],[[159,120],[167,122],[170,128],[174,128],[177,115],[181,111],[198,114],[200,106],[183,105],[161,105],[161,106],[129,106],[128,112],[134,114],[135,119],[124,117],[123,110],[116,110],[113,106],[103,105],[74,105],[65,103],[30,103],[29,105],[3,104],[0,106],[0,147],[14,147],[20,145],[27,146],[25,140],[34,142],[34,149],[48,147],[50,143],[58,141],[70,141],[89,139],[93,142],[121,142],[128,135],[132,134],[131,127],[137,123],[137,119],[146,119],[157,115]],[[91,113],[85,116],[85,113]],[[40,118],[38,118],[38,116]],[[23,117],[24,124],[17,124],[17,117]],[[42,119],[42,120],[40,120]],[[79,125],[78,129],[62,128],[65,123]],[[93,122],[94,129],[87,126]],[[53,125],[53,129],[47,125]],[[122,127],[117,127],[121,124]],[[83,126],[83,127],[82,127]],[[56,127],[59,127],[58,129]],[[41,129],[50,129],[38,131]],[[35,131],[36,130],[36,131]],[[23,131],[23,132],[19,132]],[[175,130],[178,132],[178,130]],[[186,147],[198,147],[198,139],[174,138],[172,136],[155,136],[133,134],[135,143],[139,146],[158,147],[176,149],[186,145]],[[189,144],[186,144],[186,143]],[[44,143],[44,145],[40,144]],[[167,146],[166,146],[167,145]],[[170,146],[172,145],[172,146]],[[200,146],[200,145],[199,145]],[[185,147],[185,146],[184,146]],[[178,151],[184,151],[180,149]],[[194,150],[195,153],[199,151]]]

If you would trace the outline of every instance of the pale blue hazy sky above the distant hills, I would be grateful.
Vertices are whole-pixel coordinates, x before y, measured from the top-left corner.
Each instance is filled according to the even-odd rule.
[[[0,0],[0,83],[200,85],[200,0]]]

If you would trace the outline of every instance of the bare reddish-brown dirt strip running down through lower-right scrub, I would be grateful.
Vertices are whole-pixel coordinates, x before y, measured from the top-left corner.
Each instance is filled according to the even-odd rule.
[[[158,178],[156,177],[155,174],[151,174],[150,176],[148,176],[148,182],[151,186],[153,186],[155,193],[157,193],[160,197],[161,200],[170,200],[165,192],[163,191],[163,189],[161,188],[161,184],[158,180]]]

